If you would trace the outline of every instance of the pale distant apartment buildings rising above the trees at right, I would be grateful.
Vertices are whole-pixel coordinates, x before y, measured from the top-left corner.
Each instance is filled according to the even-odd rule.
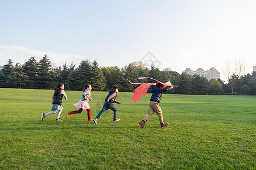
[[[214,67],[210,68],[210,70],[205,71],[202,68],[198,68],[196,71],[191,70],[190,68],[185,69],[184,71],[187,74],[190,75],[200,75],[200,76],[204,76],[205,78],[207,78],[208,80],[211,79],[219,79],[220,78],[220,72],[218,72],[217,69],[215,69]]]

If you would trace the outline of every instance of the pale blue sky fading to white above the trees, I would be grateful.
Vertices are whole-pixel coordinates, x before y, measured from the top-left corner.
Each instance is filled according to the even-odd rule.
[[[134,61],[225,70],[256,65],[254,0],[0,0],[0,65],[45,54],[53,65],[96,60],[101,67]],[[223,77],[223,75],[222,75]]]

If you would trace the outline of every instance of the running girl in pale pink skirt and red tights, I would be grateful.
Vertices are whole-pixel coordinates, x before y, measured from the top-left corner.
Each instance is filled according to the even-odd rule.
[[[87,111],[87,116],[88,116],[88,121],[92,122],[93,120],[90,118],[90,107],[88,104],[88,101],[92,101],[92,97],[90,97],[90,91],[92,90],[92,86],[90,84],[84,84],[84,87],[82,87],[82,98],[79,101],[79,103],[74,104],[75,107],[77,109],[79,109],[78,111],[72,111],[72,112],[67,112],[67,118],[71,115],[71,114],[75,114],[75,113],[81,113],[83,110]]]

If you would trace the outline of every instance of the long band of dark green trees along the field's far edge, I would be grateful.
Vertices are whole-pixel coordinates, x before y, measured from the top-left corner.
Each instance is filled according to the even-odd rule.
[[[1,88],[53,89],[63,82],[65,90],[81,90],[85,83],[92,84],[93,91],[108,91],[117,84],[119,91],[132,92],[139,85],[135,83],[151,83],[154,80],[138,77],[152,77],[160,82],[170,82],[179,87],[168,91],[170,94],[191,95],[256,95],[256,72],[247,75],[233,73],[228,83],[221,79],[207,80],[203,76],[177,73],[176,71],[160,71],[154,65],[150,69],[141,62],[132,62],[119,68],[117,66],[100,67],[94,60],[82,60],[77,66],[71,62],[63,66],[54,66],[47,55],[39,61],[31,56],[23,65],[9,59],[0,71]],[[150,92],[150,90],[148,91]]]

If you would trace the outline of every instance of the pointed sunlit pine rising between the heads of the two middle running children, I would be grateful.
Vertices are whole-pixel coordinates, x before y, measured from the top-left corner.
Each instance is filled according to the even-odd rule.
[[[93,87],[93,91],[102,91],[106,86],[106,80],[96,60],[92,63],[92,78],[90,84]]]

